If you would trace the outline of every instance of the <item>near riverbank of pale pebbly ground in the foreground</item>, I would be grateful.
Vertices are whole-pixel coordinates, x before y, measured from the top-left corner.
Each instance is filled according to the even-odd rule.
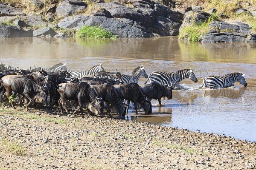
[[[255,168],[255,142],[122,119],[31,111],[0,111],[0,168]]]

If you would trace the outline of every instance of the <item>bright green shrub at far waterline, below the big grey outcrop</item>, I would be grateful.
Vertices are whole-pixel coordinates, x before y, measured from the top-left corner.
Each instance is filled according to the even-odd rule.
[[[87,38],[116,38],[111,31],[107,31],[100,26],[84,26],[77,31],[76,36]]]

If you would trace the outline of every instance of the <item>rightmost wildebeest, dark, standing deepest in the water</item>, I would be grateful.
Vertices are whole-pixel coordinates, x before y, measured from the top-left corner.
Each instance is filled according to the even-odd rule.
[[[140,88],[148,99],[158,99],[159,105],[162,105],[162,98],[167,98],[168,100],[172,99],[172,89],[168,89],[164,85],[160,85],[157,82],[140,85]]]

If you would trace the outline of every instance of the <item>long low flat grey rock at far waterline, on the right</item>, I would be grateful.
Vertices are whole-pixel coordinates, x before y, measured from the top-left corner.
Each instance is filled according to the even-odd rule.
[[[202,42],[245,42],[247,35],[240,33],[210,33],[206,34]]]

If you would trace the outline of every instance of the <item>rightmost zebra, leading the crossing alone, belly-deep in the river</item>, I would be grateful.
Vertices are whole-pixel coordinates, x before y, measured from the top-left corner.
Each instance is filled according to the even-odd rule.
[[[203,85],[200,88],[228,88],[234,86],[235,82],[239,82],[246,87],[247,82],[244,79],[244,75],[245,74],[233,72],[223,76],[207,76],[204,78]]]

